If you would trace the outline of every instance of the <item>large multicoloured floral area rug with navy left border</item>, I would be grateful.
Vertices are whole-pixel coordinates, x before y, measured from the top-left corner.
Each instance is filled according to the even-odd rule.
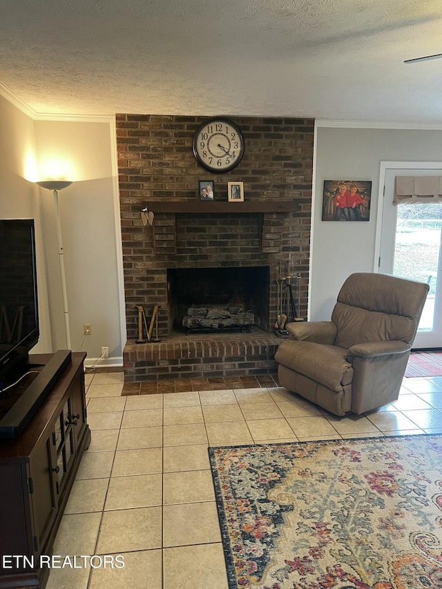
[[[442,588],[442,434],[209,454],[229,589]]]

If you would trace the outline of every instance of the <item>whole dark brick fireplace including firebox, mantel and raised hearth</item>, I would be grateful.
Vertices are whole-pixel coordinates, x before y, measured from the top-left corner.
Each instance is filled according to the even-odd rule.
[[[216,176],[198,166],[191,148],[205,118],[117,115],[126,382],[274,369],[276,278],[287,269],[299,277],[298,313],[307,312],[313,121],[232,117],[244,133],[244,157]],[[198,198],[204,179],[214,181],[214,202]],[[230,181],[244,182],[243,203],[227,202]],[[142,222],[145,207],[152,226]],[[253,309],[252,333],[217,342],[214,334],[180,331],[186,305],[212,302]],[[147,321],[160,305],[160,343],[135,344],[136,305]]]

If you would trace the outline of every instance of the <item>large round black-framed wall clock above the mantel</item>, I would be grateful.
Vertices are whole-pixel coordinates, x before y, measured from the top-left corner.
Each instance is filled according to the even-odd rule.
[[[193,154],[198,162],[215,174],[238,166],[244,153],[240,128],[228,119],[210,119],[193,137]]]

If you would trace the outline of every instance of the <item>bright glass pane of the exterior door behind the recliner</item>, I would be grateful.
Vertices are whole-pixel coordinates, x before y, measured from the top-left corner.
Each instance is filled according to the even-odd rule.
[[[430,285],[419,331],[434,329],[441,232],[442,204],[398,204],[393,273]]]

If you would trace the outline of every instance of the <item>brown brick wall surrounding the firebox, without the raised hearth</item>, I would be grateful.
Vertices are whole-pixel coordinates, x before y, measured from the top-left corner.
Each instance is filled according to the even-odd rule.
[[[300,316],[307,313],[314,121],[229,117],[242,129],[244,157],[222,175],[198,166],[196,129],[208,117],[117,115],[128,340],[137,336],[135,305],[161,305],[160,336],[169,334],[167,268],[270,267],[269,325],[276,319],[276,278],[291,257],[300,275]],[[146,202],[199,201],[198,180],[213,180],[215,201],[227,182],[244,182],[244,200],[294,200],[296,213],[157,213],[144,226]]]

